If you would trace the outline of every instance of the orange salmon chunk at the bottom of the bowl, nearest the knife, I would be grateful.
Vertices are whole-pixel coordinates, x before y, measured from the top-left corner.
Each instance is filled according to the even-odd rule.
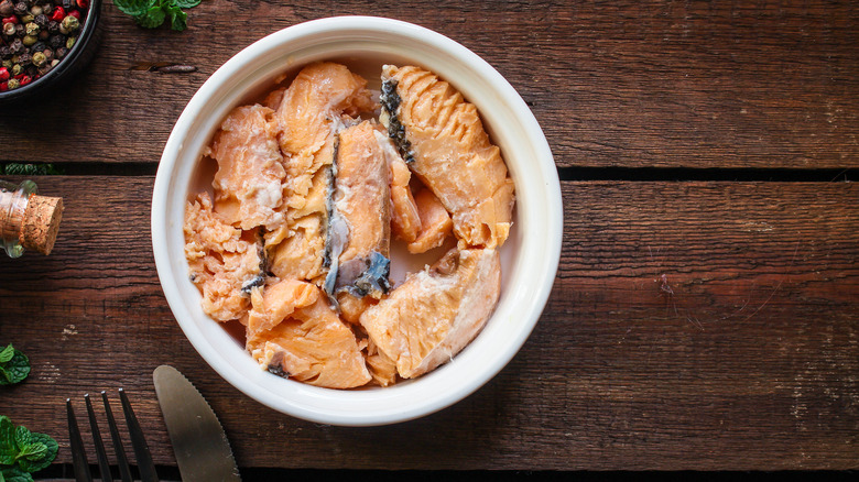
[[[372,377],[365,363],[365,347],[319,288],[304,285],[279,289],[274,284],[262,296],[254,296],[248,351],[263,369],[311,385],[352,388],[367,384]],[[315,295],[308,296],[307,289]],[[281,315],[285,316],[279,320]],[[251,325],[259,329],[250,329]]]

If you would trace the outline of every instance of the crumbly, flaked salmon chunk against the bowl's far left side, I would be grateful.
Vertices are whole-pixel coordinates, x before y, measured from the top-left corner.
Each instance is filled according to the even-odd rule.
[[[262,245],[213,211],[202,193],[185,207],[185,259],[203,294],[203,311],[218,321],[242,318],[251,287],[264,281]]]

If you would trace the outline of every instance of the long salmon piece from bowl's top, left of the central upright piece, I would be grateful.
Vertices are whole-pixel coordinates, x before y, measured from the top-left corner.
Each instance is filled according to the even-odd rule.
[[[285,157],[286,222],[265,238],[276,276],[322,282],[336,134],[355,122],[352,117],[374,107],[367,80],[329,62],[303,68],[283,92],[272,123]],[[280,242],[291,237],[300,240]],[[295,265],[300,259],[306,260]]]

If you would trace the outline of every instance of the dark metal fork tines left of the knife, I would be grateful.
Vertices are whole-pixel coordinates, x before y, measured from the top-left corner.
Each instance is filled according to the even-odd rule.
[[[126,391],[122,388],[119,388],[119,398],[122,403],[122,413],[131,438],[131,447],[134,450],[134,457],[138,461],[140,479],[143,482],[157,482],[159,479],[155,473],[155,464],[152,462],[152,454],[150,453],[149,446],[143,437],[143,430],[141,430],[138,417],[134,415],[134,410],[131,409],[128,395],[126,395]],[[110,409],[110,402],[108,402],[107,393],[104,391],[101,392],[101,399],[105,404],[105,414],[107,415],[108,427],[110,429],[110,438],[113,441],[113,452],[116,453],[117,465],[119,465],[120,478],[122,482],[132,482],[133,479],[131,478],[131,469],[129,468],[126,449],[122,445],[122,439],[119,436],[119,429],[117,428],[117,423],[113,418],[113,412]],[[105,451],[105,445],[101,441],[101,432],[98,429],[98,420],[96,418],[96,413],[93,409],[89,394],[84,395],[84,401],[86,401],[87,405],[89,426],[93,431],[93,442],[96,448],[96,458],[98,459],[98,470],[101,480],[105,482],[112,482],[113,479],[110,474],[110,463],[108,462],[107,452]],[[75,418],[75,410],[72,408],[70,398],[66,398],[66,413],[68,415],[68,438],[72,443],[72,460],[75,468],[75,480],[77,480],[77,482],[91,482],[93,475],[89,472],[89,463],[87,462],[86,450],[84,450],[84,440],[80,438],[80,430],[78,429],[77,419]]]

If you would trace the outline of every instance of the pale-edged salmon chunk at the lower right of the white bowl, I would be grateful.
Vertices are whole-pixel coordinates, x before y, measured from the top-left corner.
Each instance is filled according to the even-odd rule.
[[[501,289],[496,250],[447,252],[411,274],[359,319],[400,376],[411,379],[450,360],[482,329]]]

